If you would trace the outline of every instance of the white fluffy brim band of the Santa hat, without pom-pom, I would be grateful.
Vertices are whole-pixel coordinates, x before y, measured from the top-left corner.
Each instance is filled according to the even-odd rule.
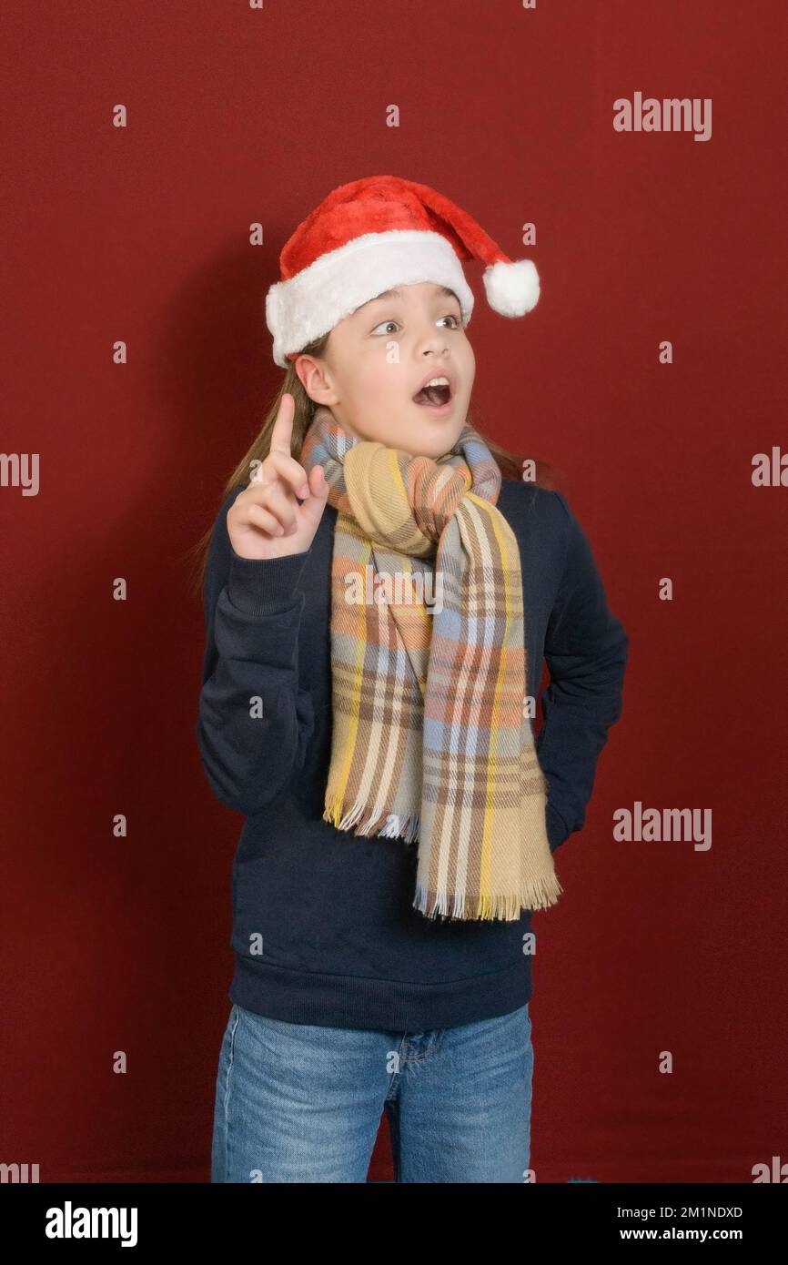
[[[383,290],[421,281],[453,290],[463,325],[468,324],[473,291],[452,244],[440,233],[421,229],[363,233],[321,254],[295,277],[277,281],[266,295],[274,362],[286,369],[291,363],[286,352],[300,352]]]

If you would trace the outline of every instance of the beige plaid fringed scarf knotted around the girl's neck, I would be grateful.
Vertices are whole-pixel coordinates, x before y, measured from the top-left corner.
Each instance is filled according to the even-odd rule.
[[[319,405],[301,464],[323,466],[338,510],[324,820],[417,839],[414,908],[428,917],[555,904],[520,552],[489,449],[465,423],[445,457],[411,457]]]

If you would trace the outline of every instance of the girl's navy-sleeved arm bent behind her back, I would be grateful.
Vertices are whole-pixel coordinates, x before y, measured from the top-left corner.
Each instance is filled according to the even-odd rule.
[[[550,684],[541,696],[536,739],[548,778],[550,851],[582,830],[607,730],[622,712],[629,638],[610,611],[586,534],[560,492],[567,519],[565,563],[548,621]]]

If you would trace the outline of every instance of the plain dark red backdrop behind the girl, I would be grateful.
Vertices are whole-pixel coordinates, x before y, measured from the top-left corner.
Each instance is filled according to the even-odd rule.
[[[536,1178],[788,1159],[788,487],[751,478],[788,448],[785,5],[39,0],[4,28],[3,450],[39,454],[39,487],[0,487],[0,1161],[209,1180],[242,818],[199,763],[183,557],[280,381],[278,250],[376,173],[535,259],[520,321],[467,268],[474,416],[563,472],[631,639],[535,920]],[[616,132],[636,92],[711,99],[711,139]],[[711,810],[712,846],[616,840],[636,801]]]

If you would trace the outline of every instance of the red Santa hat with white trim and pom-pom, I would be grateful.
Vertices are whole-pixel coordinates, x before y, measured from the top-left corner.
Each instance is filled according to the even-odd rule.
[[[512,262],[477,221],[429,185],[366,176],[334,188],[288,238],[281,281],[266,296],[273,359],[282,368],[314,339],[393,286],[434,281],[459,299],[463,326],[473,291],[463,259],[481,259],[487,302],[524,316],[539,299],[530,259]]]

